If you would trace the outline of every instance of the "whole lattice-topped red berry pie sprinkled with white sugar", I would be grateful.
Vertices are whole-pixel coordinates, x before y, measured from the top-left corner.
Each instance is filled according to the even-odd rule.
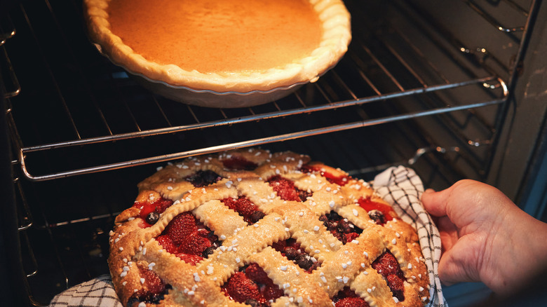
[[[414,228],[370,186],[292,152],[171,163],[116,217],[124,306],[424,306]]]

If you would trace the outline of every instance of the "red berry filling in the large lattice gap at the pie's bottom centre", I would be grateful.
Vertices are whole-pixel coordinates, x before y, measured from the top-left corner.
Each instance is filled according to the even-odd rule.
[[[234,273],[224,282],[222,290],[234,301],[250,306],[270,306],[271,302],[283,296],[283,290],[258,264],[249,264]]]

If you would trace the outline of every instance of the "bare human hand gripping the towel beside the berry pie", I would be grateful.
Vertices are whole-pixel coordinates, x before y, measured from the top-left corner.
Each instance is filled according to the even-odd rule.
[[[438,217],[443,254],[439,278],[445,285],[482,281],[511,294],[547,267],[547,224],[518,208],[487,184],[462,180],[421,197]]]

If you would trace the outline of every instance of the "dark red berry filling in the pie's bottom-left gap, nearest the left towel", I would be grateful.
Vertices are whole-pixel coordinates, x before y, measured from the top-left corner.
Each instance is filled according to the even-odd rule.
[[[142,288],[135,292],[129,299],[127,306],[132,306],[135,302],[159,303],[163,296],[171,289],[170,285],[166,285],[154,271],[149,270],[144,266],[138,265],[140,277],[144,278]]]

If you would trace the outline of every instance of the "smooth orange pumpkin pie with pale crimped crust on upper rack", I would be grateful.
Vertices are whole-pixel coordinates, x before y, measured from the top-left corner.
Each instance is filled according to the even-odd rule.
[[[313,82],[346,53],[340,0],[84,0],[89,35],[133,74],[220,93]]]

